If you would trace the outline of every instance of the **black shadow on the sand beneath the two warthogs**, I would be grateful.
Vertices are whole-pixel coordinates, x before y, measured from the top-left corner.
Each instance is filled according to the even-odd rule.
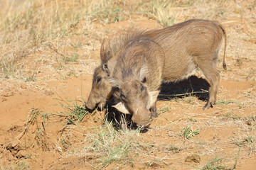
[[[208,98],[208,89],[210,84],[203,78],[192,76],[189,79],[179,81],[178,83],[163,83],[161,92],[157,98],[158,101],[169,101],[172,98],[183,98],[184,96],[196,96],[205,101]],[[137,129],[137,125],[132,123],[132,115],[120,113],[111,104],[107,108],[105,119],[112,122],[114,128],[119,130]],[[141,132],[147,132],[147,129]]]

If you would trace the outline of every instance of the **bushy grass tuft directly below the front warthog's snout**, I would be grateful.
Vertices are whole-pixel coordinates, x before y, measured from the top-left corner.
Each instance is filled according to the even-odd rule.
[[[104,168],[112,163],[119,164],[119,168],[124,165],[134,166],[132,150],[137,147],[137,130],[119,131],[115,130],[112,123],[105,122],[97,133],[92,133],[87,137],[89,146],[85,146],[87,154],[96,154],[94,163],[97,168]]]

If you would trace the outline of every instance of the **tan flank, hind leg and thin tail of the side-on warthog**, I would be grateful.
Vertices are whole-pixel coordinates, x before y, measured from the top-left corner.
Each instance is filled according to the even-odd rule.
[[[145,33],[137,35],[137,39],[149,38],[158,43],[164,50],[165,59],[161,73],[161,81],[180,81],[193,74],[193,72],[196,71],[196,67],[201,69],[210,83],[209,99],[206,106],[204,106],[205,110],[212,107],[213,103],[216,101],[218,83],[220,80],[216,63],[223,35],[226,48],[226,34],[220,23],[215,21],[191,20],[161,30],[146,31]],[[136,38],[132,38],[132,40],[136,40]],[[124,45],[124,48],[125,47]],[[115,64],[117,62],[117,55],[119,55],[118,52],[112,58],[110,57],[112,61],[108,59],[108,64],[106,64],[107,62],[102,63],[102,72],[105,72],[106,75],[111,76],[111,72],[113,71],[110,71],[112,69],[109,69],[108,66],[110,65],[110,68],[113,68],[111,64],[113,65],[113,63]],[[114,69],[118,67],[119,63],[115,64]],[[226,69],[225,50],[223,67]],[[104,79],[104,81],[107,81],[107,79]],[[110,86],[110,84],[108,84],[108,86]],[[132,88],[132,86],[130,88]],[[125,102],[122,103],[125,108],[128,108]],[[119,104],[119,106],[121,105]],[[131,108],[128,108],[128,110],[129,109]],[[135,122],[138,121],[135,120]]]

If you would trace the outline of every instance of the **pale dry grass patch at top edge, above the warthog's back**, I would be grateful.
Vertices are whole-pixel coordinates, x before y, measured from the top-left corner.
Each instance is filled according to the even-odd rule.
[[[224,18],[227,1],[149,1],[142,6],[146,16],[159,21],[161,26],[172,26],[174,23],[186,21],[191,18]]]

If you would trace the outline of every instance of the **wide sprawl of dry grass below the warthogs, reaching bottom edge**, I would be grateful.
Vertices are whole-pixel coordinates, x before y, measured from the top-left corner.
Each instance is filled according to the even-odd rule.
[[[116,130],[112,123],[105,121],[103,125],[94,128],[85,135],[85,141],[80,147],[65,150],[58,142],[58,149],[68,154],[63,157],[76,155],[86,159],[85,166],[91,169],[104,169],[114,164],[114,169],[131,169],[135,164],[153,166],[158,164],[168,167],[164,159],[154,154],[173,153],[181,151],[174,145],[161,145],[156,142],[146,142],[146,138],[140,135],[139,130]],[[70,144],[72,145],[72,144]],[[149,154],[151,153],[151,154]]]

